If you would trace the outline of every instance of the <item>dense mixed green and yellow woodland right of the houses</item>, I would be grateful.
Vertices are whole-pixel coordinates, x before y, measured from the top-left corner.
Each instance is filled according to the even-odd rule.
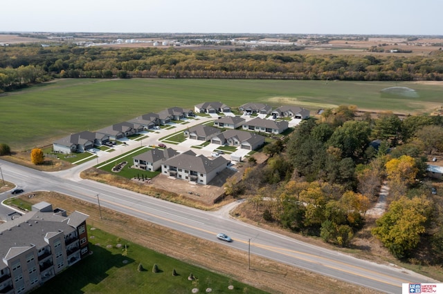
[[[374,119],[339,106],[266,145],[267,163],[251,160],[226,193],[246,196],[258,222],[350,246],[386,181],[391,204],[372,235],[397,258],[414,257],[420,248],[433,256],[428,262],[440,263],[443,201],[431,193],[426,161],[442,151],[443,117],[401,120],[386,112]]]

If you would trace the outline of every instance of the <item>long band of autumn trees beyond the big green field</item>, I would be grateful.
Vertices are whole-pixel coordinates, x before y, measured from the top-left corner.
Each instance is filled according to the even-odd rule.
[[[443,52],[426,57],[312,55],[246,48],[105,48],[19,44],[0,48],[0,91],[55,78],[443,80]]]

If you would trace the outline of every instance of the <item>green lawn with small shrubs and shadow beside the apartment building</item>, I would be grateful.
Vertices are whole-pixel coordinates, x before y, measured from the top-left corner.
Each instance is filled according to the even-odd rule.
[[[203,268],[156,253],[99,229],[88,228],[92,255],[49,280],[33,293],[266,293]],[[126,250],[125,250],[126,245]],[[142,264],[144,271],[138,271]],[[153,273],[156,264],[158,273]],[[172,271],[178,273],[172,275]],[[188,280],[192,273],[198,280]],[[197,281],[197,282],[196,282]],[[233,285],[233,290],[228,286]]]

